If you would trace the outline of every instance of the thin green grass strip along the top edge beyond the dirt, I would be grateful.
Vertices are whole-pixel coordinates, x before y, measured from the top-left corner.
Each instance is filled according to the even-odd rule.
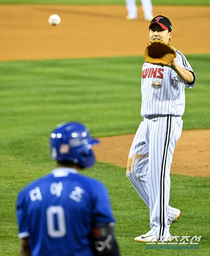
[[[0,0],[0,4],[125,5],[125,0]],[[140,0],[137,0],[140,4]],[[152,0],[153,5],[210,5],[209,0]]]

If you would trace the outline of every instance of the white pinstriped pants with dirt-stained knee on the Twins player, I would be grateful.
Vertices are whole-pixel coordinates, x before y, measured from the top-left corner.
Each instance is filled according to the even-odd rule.
[[[181,117],[171,115],[144,117],[128,158],[128,179],[150,209],[148,233],[163,240],[170,237],[168,225],[178,210],[169,206],[170,166],[182,122]]]

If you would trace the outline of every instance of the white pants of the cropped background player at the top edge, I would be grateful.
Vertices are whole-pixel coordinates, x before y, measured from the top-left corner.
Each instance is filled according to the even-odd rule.
[[[125,0],[126,8],[128,10],[128,16],[130,19],[137,19],[137,6],[136,0]],[[144,12],[144,19],[151,21],[153,19],[152,14],[152,2],[151,0],[141,0],[142,9]]]

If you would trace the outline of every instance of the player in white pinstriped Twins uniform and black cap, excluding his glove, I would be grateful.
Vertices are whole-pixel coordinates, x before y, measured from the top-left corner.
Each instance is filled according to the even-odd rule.
[[[172,25],[162,15],[152,19],[150,41],[170,42]],[[157,44],[158,45],[158,44]],[[175,49],[176,50],[176,49]],[[128,157],[127,176],[150,209],[150,230],[135,238],[139,242],[169,241],[170,225],[182,215],[169,205],[170,166],[182,133],[184,87],[195,86],[195,74],[184,55],[176,50],[168,65],[145,62],[142,68],[143,120]]]

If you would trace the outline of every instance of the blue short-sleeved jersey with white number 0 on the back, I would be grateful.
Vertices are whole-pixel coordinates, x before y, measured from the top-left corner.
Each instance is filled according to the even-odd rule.
[[[64,167],[19,193],[17,219],[32,256],[93,256],[92,228],[114,221],[104,185]]]

